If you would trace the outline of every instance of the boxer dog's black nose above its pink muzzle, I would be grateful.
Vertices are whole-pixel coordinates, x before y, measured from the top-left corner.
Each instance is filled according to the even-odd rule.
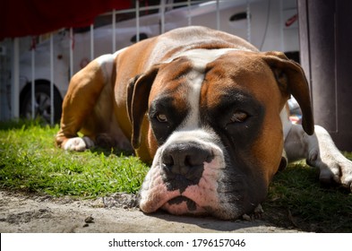
[[[197,143],[174,143],[162,153],[162,162],[167,179],[184,177],[198,184],[203,172],[203,163],[214,158],[212,151]]]

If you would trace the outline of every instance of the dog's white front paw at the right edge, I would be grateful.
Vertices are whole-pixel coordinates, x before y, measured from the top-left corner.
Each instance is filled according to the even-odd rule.
[[[327,156],[319,161],[320,176],[323,184],[337,183],[352,192],[352,161],[343,155]]]

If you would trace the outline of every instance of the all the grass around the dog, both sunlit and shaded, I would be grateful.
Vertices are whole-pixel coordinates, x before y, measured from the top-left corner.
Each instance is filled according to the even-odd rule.
[[[140,160],[116,149],[62,151],[54,143],[57,131],[38,121],[0,123],[0,188],[79,198],[139,191],[148,171]],[[280,171],[262,203],[263,217],[288,229],[352,232],[352,195],[321,186],[318,176],[304,162]]]

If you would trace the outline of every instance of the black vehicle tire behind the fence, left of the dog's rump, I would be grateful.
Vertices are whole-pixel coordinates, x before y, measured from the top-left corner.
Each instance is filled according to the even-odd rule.
[[[20,114],[21,117],[31,119],[31,91],[26,88],[21,97]],[[41,119],[50,124],[51,104],[50,104],[50,85],[46,83],[37,83],[35,88],[34,118]],[[54,88],[54,123],[58,123],[61,118],[62,102],[59,92]]]

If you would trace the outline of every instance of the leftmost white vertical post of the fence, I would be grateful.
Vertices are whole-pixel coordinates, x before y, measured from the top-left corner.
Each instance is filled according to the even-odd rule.
[[[13,84],[12,84],[12,99],[11,109],[12,118],[20,117],[20,40],[13,39]]]

